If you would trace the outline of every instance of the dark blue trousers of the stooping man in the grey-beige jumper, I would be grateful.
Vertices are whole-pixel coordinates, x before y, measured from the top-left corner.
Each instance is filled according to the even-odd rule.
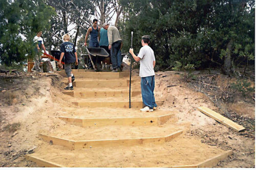
[[[121,56],[120,47],[121,47],[121,41],[116,41],[112,44],[111,49],[110,49],[111,63],[112,63],[113,69],[121,68],[122,56]],[[120,53],[118,53],[119,51],[120,51]]]

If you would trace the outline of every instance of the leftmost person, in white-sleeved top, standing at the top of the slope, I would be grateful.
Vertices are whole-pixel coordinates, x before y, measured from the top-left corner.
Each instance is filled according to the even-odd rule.
[[[37,32],[37,35],[34,37],[33,42],[35,43],[35,56],[34,56],[34,66],[31,69],[31,71],[41,71],[39,64],[41,62],[41,53],[40,53],[40,49],[42,48],[45,53],[46,53],[46,47],[44,45],[44,41],[41,38],[42,35],[42,31]]]

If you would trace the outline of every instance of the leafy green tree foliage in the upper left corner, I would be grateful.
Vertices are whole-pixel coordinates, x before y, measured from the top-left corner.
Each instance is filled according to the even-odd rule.
[[[44,0],[3,0],[0,9],[0,62],[22,65],[33,56],[36,32],[51,27],[49,19],[54,10]]]

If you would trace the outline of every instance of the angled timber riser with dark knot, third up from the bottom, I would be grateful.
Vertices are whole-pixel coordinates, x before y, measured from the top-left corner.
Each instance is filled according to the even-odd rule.
[[[162,125],[167,120],[173,117],[173,114],[155,116],[155,117],[128,117],[128,118],[72,118],[60,116],[58,118],[64,120],[65,122],[82,126],[82,127],[100,127],[100,126],[113,126],[113,125],[123,125],[123,126],[156,126]]]

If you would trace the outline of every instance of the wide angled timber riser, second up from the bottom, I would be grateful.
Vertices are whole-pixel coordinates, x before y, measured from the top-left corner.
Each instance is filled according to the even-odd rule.
[[[147,138],[134,138],[134,139],[108,139],[108,140],[68,140],[63,138],[58,138],[54,136],[48,136],[45,134],[40,134],[39,136],[57,145],[62,145],[63,147],[68,147],[70,149],[81,149],[81,148],[96,148],[96,147],[117,147],[123,145],[126,147],[131,147],[133,145],[141,145],[146,143],[164,143],[174,139],[179,136],[182,131],[177,131],[173,134],[164,137],[147,137]]]

